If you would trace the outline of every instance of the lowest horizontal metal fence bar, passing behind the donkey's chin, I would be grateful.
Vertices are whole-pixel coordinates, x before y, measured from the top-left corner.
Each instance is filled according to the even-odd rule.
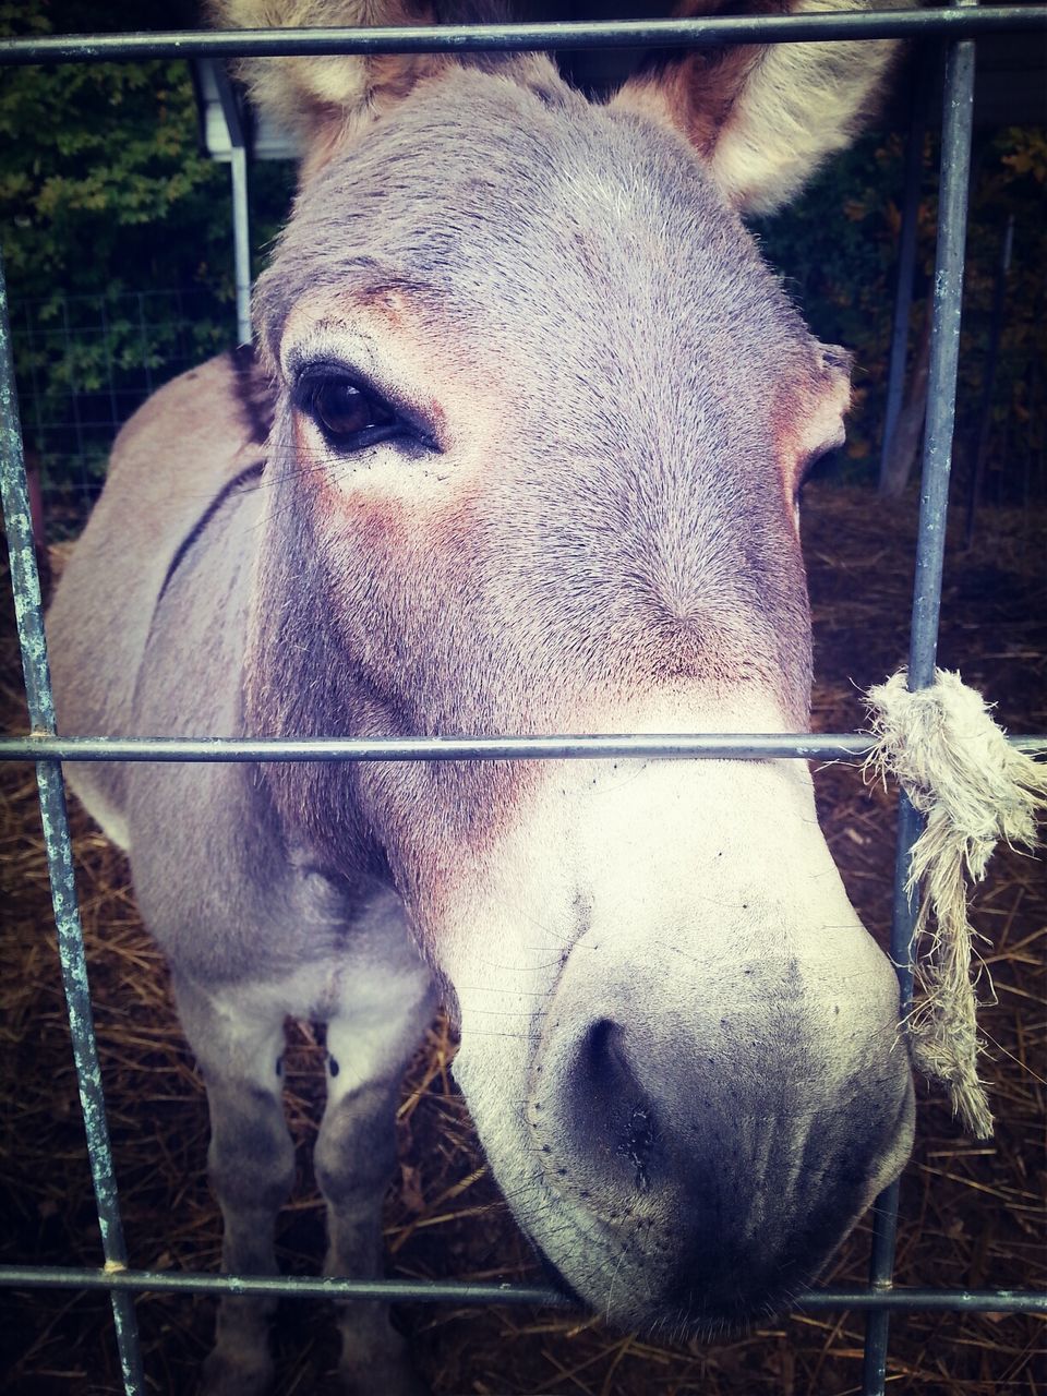
[[[542,1304],[575,1308],[544,1284],[479,1284],[468,1280],[342,1280],[300,1275],[200,1275],[172,1270],[88,1270],[59,1266],[0,1266],[11,1289],[131,1290],[156,1294],[279,1294],[286,1298],[355,1298],[394,1304]],[[797,1309],[953,1309],[967,1314],[1047,1314],[1047,1293],[1036,1290],[814,1290]]]

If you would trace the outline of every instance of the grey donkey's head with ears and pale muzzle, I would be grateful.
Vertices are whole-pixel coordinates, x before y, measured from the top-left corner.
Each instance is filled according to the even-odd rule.
[[[805,729],[797,493],[847,359],[741,214],[846,141],[889,47],[660,56],[599,105],[530,56],[258,64],[307,154],[257,299],[257,730]],[[780,1304],[898,1175],[895,976],[799,762],[268,779],[403,898],[510,1205],[610,1319]]]

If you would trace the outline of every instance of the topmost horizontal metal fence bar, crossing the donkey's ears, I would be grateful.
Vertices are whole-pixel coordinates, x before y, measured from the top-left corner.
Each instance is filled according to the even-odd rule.
[[[482,53],[535,49],[705,47],[825,39],[969,38],[1047,24],[1047,6],[983,10],[872,10],[702,20],[602,20],[581,24],[455,24],[356,29],[168,29],[0,40],[0,63],[101,63],[124,59],[289,57],[310,53]]]

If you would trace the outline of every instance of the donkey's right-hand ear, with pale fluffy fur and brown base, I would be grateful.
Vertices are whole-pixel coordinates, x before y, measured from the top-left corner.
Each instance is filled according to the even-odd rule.
[[[884,0],[889,8],[903,0]],[[681,0],[676,18],[725,7]],[[759,13],[870,10],[870,0],[757,0]],[[730,7],[733,8],[733,6]],[[652,54],[614,98],[681,131],[741,214],[794,198],[875,109],[899,45],[892,39],[733,45]]]

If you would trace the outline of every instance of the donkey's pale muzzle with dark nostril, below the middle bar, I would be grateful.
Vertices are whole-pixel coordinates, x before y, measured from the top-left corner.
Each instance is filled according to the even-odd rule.
[[[606,778],[579,775],[589,819],[558,775],[503,849],[522,914],[473,903],[484,944],[454,956],[455,1075],[517,1220],[574,1297],[674,1337],[801,1297],[913,1136],[898,983],[805,772],[701,766],[641,768],[596,799]],[[549,861],[528,896],[535,845]]]

